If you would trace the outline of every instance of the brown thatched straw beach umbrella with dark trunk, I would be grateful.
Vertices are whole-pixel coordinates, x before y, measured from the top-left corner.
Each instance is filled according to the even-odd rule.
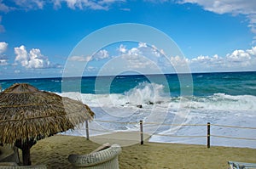
[[[0,144],[22,150],[24,165],[31,165],[30,148],[36,141],[73,129],[94,113],[77,100],[39,91],[26,83],[0,93]]]

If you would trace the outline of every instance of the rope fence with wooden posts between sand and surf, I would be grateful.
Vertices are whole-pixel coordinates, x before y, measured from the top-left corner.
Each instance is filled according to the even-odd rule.
[[[211,124],[210,122],[207,122],[207,124],[167,124],[167,123],[156,123],[156,122],[143,122],[143,121],[138,121],[138,122],[121,122],[121,121],[102,121],[102,120],[94,120],[96,122],[104,122],[104,123],[118,123],[118,124],[132,124],[132,125],[140,125],[140,131],[137,131],[140,133],[140,142],[143,144],[143,127],[148,126],[148,125],[159,125],[159,126],[184,126],[184,127],[206,127],[207,132],[206,135],[199,135],[199,136],[186,136],[186,135],[175,135],[175,134],[160,134],[160,133],[153,133],[152,135],[156,136],[162,136],[162,137],[174,137],[174,138],[207,138],[207,148],[211,147],[211,137],[213,138],[230,138],[230,139],[242,139],[242,140],[253,140],[256,141],[256,138],[237,138],[237,137],[230,137],[230,136],[220,136],[220,135],[215,135],[211,134],[211,127],[228,127],[228,128],[239,128],[239,129],[249,129],[249,130],[256,130],[256,127],[241,127],[241,126],[228,126],[228,125],[218,125],[218,124]],[[108,132],[112,133],[115,131],[110,131],[106,129],[89,129],[88,121],[85,123],[85,130],[86,130],[86,137],[89,139],[89,130],[90,131],[96,131],[96,132]]]

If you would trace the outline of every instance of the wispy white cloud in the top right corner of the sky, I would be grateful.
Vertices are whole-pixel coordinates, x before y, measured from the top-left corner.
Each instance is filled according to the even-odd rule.
[[[205,10],[216,14],[244,14],[249,20],[248,27],[253,33],[256,33],[255,0],[179,0],[178,3],[196,3]]]

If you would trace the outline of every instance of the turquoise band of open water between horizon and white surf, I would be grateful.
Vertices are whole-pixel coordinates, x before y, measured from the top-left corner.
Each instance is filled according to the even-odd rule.
[[[158,81],[158,75],[148,75],[156,84],[163,84]],[[140,83],[149,82],[148,76],[116,76],[111,84],[110,91],[106,88],[99,88],[100,93],[125,93],[132,88],[138,87]],[[171,96],[175,97],[180,94],[180,82],[175,74],[165,75],[168,84],[164,83],[165,89],[169,88]],[[194,95],[198,97],[207,97],[215,93],[224,93],[229,95],[252,95],[256,96],[256,72],[230,72],[230,73],[196,73],[192,74]],[[96,78],[104,81],[109,76],[102,77],[82,77],[81,78],[81,93],[96,93],[95,82]],[[73,81],[77,78],[69,78],[70,91],[73,90]],[[79,77],[80,79],[80,77]],[[150,80],[151,80],[150,79]],[[15,80],[0,80],[2,88],[9,87],[16,82],[27,82],[40,90],[61,93],[61,77],[56,78],[36,78],[36,79],[15,79]],[[164,94],[163,93],[163,94]]]

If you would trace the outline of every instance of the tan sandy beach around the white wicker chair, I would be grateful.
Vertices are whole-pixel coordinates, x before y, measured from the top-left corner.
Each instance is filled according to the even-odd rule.
[[[99,147],[83,137],[55,135],[39,140],[31,149],[32,165],[49,168],[71,168],[71,154],[88,154]],[[256,162],[256,149],[190,144],[159,144],[144,142],[122,148],[119,168],[228,168],[227,161]]]

